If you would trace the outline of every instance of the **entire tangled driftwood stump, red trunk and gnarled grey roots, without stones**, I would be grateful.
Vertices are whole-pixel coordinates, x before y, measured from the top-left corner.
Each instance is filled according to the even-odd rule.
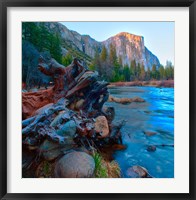
[[[25,147],[39,146],[45,139],[59,145],[69,143],[71,139],[86,148],[122,143],[120,128],[123,123],[112,125],[110,113],[102,110],[109,97],[108,83],[98,81],[96,71],[89,71],[78,59],[64,67],[54,59],[47,62],[40,58],[38,69],[54,79],[54,86],[22,93],[22,138]],[[110,134],[106,138],[100,138],[101,133],[95,131],[95,118],[101,115],[110,119],[107,121]],[[62,135],[70,121],[76,129],[74,134]]]

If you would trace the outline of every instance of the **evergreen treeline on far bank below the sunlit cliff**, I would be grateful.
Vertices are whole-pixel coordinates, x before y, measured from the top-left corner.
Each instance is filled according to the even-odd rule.
[[[122,58],[117,57],[116,48],[112,44],[109,53],[106,47],[103,47],[101,53],[95,54],[90,68],[97,70],[104,79],[110,82],[174,79],[174,66],[170,61],[167,61],[165,67],[153,65],[152,69],[148,67],[147,70],[136,60],[130,61],[129,65],[123,65]]]

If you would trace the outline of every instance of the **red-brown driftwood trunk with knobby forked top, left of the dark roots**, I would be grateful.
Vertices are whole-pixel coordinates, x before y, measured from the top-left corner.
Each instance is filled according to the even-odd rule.
[[[38,92],[22,93],[23,119],[33,116],[37,109],[49,103],[56,103],[60,98],[65,97],[67,92],[78,83],[78,78],[87,71],[87,68],[83,67],[77,59],[74,59],[71,65],[64,67],[54,59],[46,62],[40,58],[38,69],[54,79],[54,87]]]

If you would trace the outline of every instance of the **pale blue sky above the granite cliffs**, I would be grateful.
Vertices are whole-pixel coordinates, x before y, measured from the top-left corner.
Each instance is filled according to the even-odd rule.
[[[144,37],[144,45],[165,66],[169,60],[174,64],[174,22],[61,22],[68,29],[82,35],[90,35],[104,41],[120,32]],[[175,64],[174,64],[175,65]]]

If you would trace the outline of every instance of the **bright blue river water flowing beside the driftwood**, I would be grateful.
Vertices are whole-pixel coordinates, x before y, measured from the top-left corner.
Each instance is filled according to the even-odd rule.
[[[146,150],[148,145],[174,144],[174,89],[156,87],[115,87],[109,89],[115,97],[141,97],[144,103],[128,105],[107,102],[115,108],[115,121],[126,120],[122,128],[123,143],[127,149],[116,151],[122,176],[133,165],[145,167],[155,178],[174,177],[174,148],[157,146],[155,152]],[[156,135],[146,136],[143,131]]]

